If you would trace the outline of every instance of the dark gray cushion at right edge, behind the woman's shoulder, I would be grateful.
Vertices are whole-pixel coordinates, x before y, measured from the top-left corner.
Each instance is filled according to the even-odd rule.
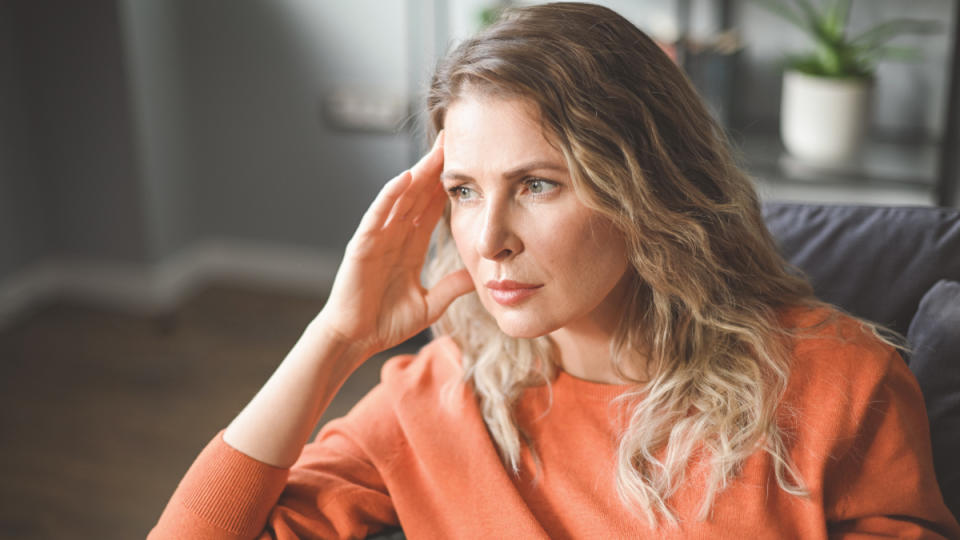
[[[939,281],[923,296],[907,341],[910,370],[927,405],[940,490],[960,516],[960,283]]]

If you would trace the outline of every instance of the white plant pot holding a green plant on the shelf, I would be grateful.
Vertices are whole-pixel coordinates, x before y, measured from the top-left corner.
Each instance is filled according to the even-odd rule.
[[[856,162],[866,136],[872,79],[783,74],[780,137],[797,159],[813,165]]]

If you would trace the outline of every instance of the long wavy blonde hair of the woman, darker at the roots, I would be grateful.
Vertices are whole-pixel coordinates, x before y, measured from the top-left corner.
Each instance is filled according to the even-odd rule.
[[[617,372],[636,383],[621,396],[621,500],[651,523],[675,523],[669,499],[694,457],[707,456],[704,519],[758,449],[780,488],[804,496],[777,418],[790,373],[778,310],[821,304],[779,255],[750,180],[681,70],[607,8],[538,5],[508,10],[441,61],[427,98],[431,139],[468,93],[536,104],[578,196],[627,239],[633,286],[611,346]],[[447,220],[434,255],[428,281],[462,267]],[[553,378],[550,338],[504,335],[476,295],[433,330],[462,349],[490,435],[516,473],[522,445],[536,452],[513,406],[524,388]],[[644,380],[625,375],[637,356]]]

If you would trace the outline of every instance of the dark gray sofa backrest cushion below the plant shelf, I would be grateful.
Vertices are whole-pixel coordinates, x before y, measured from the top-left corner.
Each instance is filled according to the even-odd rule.
[[[817,296],[906,334],[923,294],[960,281],[960,211],[768,202],[767,227]]]

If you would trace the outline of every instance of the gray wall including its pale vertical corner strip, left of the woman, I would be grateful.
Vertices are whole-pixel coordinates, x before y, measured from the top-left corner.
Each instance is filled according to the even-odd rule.
[[[320,106],[337,84],[407,89],[404,3],[122,6],[153,255],[208,236],[341,249],[411,143],[330,129]]]

